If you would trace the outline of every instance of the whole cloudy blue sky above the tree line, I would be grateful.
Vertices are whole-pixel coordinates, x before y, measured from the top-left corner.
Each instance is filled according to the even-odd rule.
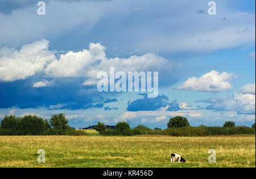
[[[166,128],[255,123],[255,1],[0,0],[0,120],[63,113]],[[148,91],[98,91],[98,72],[158,72]],[[148,88],[147,88],[148,89]],[[141,88],[140,88],[141,90]]]

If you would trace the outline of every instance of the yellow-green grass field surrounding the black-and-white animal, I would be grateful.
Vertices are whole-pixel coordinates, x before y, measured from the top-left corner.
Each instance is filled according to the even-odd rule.
[[[209,149],[216,163],[208,163]],[[170,163],[171,152],[187,162]],[[255,167],[255,135],[0,136],[0,167]]]

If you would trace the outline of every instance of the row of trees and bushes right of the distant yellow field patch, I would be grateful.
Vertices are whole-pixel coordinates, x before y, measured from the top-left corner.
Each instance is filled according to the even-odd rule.
[[[104,123],[98,122],[94,128],[101,135],[171,135],[171,136],[208,136],[208,135],[236,135],[236,134],[255,134],[255,123],[251,127],[235,126],[233,121],[226,121],[223,127],[208,127],[208,126],[190,126],[187,118],[183,116],[175,116],[167,123],[167,128],[154,128],[138,125],[131,128],[126,122],[118,122],[115,128],[108,128]]]

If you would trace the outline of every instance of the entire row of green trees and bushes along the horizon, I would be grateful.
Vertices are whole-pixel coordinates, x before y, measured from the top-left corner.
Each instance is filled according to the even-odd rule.
[[[129,123],[118,122],[115,126],[108,126],[98,122],[90,126],[96,129],[100,135],[106,136],[131,136],[131,135],[171,135],[171,136],[207,136],[207,135],[235,135],[255,134],[255,123],[251,127],[236,126],[233,121],[226,121],[222,127],[214,126],[190,126],[187,118],[175,116],[170,118],[167,128],[162,130],[155,127],[154,130],[143,125],[131,128]],[[42,119],[36,115],[16,117],[5,116],[1,120],[0,135],[86,135],[84,131],[75,130],[68,124],[64,114],[55,114],[51,119]]]

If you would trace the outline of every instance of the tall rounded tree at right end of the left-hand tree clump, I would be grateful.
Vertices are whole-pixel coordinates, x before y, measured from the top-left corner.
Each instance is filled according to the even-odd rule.
[[[70,128],[68,126],[68,119],[65,118],[64,114],[55,114],[52,115],[52,118],[49,120],[51,126],[56,130],[67,130]]]

